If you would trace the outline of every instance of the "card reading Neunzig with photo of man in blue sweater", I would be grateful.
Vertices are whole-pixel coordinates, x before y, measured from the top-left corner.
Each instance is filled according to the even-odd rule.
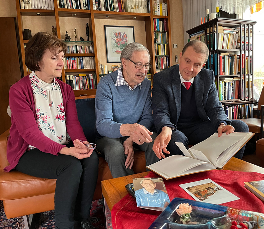
[[[162,178],[135,178],[133,184],[139,208],[163,211],[171,202]]]

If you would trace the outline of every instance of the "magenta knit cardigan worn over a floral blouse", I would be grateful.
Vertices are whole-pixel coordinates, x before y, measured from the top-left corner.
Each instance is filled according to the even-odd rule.
[[[57,82],[61,88],[67,133],[72,140],[87,141],[78,120],[75,96],[71,86],[61,80],[57,80]],[[9,172],[16,167],[29,144],[45,153],[58,155],[65,145],[54,142],[39,130],[29,75],[23,77],[10,88],[9,104],[12,114],[10,136],[7,142],[7,160],[10,165],[5,167],[4,171]]]

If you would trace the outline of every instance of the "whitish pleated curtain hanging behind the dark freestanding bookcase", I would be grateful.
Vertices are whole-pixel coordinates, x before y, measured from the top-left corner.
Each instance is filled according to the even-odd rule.
[[[184,29],[184,45],[187,44],[189,34],[187,30],[201,24],[201,17],[206,20],[206,9],[210,13],[216,13],[218,6],[217,0],[183,0],[183,29]]]

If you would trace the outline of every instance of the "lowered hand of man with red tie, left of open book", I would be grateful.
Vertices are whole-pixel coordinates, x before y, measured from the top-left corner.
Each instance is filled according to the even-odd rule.
[[[161,133],[154,140],[152,149],[159,159],[165,158],[165,155],[162,153],[162,150],[164,153],[170,154],[166,147],[171,140],[171,133],[171,127],[164,126],[162,127]]]

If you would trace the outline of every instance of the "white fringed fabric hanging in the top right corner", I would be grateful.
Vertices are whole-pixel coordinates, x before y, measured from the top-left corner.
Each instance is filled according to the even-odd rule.
[[[250,6],[263,0],[218,0],[219,9],[231,14],[244,13]]]

